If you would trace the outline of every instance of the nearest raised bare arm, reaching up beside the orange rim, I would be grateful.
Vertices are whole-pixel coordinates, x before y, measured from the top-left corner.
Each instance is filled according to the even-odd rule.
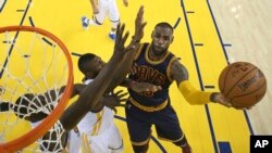
[[[91,107],[95,107],[99,104],[102,105],[99,103],[100,98],[106,92],[113,79],[120,76],[120,73],[124,73],[125,69],[120,69],[122,68],[120,64],[127,64],[124,63],[123,60],[126,54],[133,50],[125,50],[124,43],[128,37],[128,33],[126,33],[124,36],[123,33],[124,25],[119,25],[116,30],[114,53],[111,60],[102,68],[94,81],[83,89],[78,100],[69,106],[69,109],[61,116],[60,122],[62,123],[65,130],[73,129]]]

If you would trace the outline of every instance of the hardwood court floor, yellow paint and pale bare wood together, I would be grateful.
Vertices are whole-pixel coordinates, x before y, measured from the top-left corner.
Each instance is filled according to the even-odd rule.
[[[269,28],[272,18],[265,11],[270,11],[268,8],[271,3],[269,0],[263,2],[131,0],[129,7],[125,8],[119,0],[118,4],[121,21],[126,23],[131,34],[134,33],[136,12],[140,4],[145,5],[145,20],[148,25],[144,41],[150,41],[151,30],[159,22],[169,22],[175,26],[175,39],[170,50],[182,59],[181,62],[188,68],[190,81],[196,88],[218,91],[218,77],[222,68],[227,65],[228,59],[230,62],[248,61],[257,64],[267,75],[268,82],[270,81],[271,62],[269,64],[268,58],[271,58],[269,42],[272,40],[272,35]],[[108,38],[109,21],[101,27],[83,30],[81,26],[83,15],[91,16],[88,0],[7,0],[0,12],[0,26],[33,25],[45,28],[63,40],[71,53],[92,52],[108,61],[113,50],[113,41]],[[236,15],[240,16],[237,18]],[[270,20],[265,21],[270,22],[264,23],[263,16],[269,17]],[[255,18],[257,21],[250,25]],[[250,41],[248,37],[251,38]],[[83,75],[76,67],[77,59],[73,56],[74,75],[75,82],[81,82]],[[269,101],[272,90],[270,84],[263,101],[245,112],[213,103],[189,105],[175,84],[170,90],[172,104],[195,153],[249,153],[250,135],[272,135],[270,128],[272,118],[268,115],[272,105]],[[122,120],[125,118],[123,109],[119,109],[116,115],[125,153],[131,153],[133,151],[127,129],[125,122]],[[181,152],[174,144],[157,139],[154,129],[152,136],[154,139],[150,142],[150,153]]]

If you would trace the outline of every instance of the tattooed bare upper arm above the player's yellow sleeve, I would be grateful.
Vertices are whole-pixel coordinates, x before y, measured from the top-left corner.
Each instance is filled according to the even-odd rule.
[[[189,78],[187,68],[177,60],[171,65],[171,76],[176,81],[177,86],[181,81],[187,80]]]

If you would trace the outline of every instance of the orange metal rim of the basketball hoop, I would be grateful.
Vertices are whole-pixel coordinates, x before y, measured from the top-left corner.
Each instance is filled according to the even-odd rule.
[[[70,56],[70,52],[67,48],[64,46],[64,43],[53,34],[45,29],[32,27],[32,26],[0,27],[0,34],[5,33],[5,31],[35,31],[40,35],[47,36],[48,38],[54,40],[54,42],[57,42],[60,46],[60,48],[62,49],[63,53],[66,56],[66,62],[69,65],[69,77],[67,77],[66,88],[63,92],[62,98],[60,99],[59,104],[52,111],[52,113],[49,116],[47,116],[41,124],[39,124],[37,127],[32,129],[30,131],[26,132],[24,136],[16,138],[12,141],[5,142],[5,143],[0,143],[1,153],[11,153],[11,152],[15,152],[17,150],[21,150],[32,144],[34,141],[36,141],[42,135],[45,135],[53,126],[53,124],[60,118],[72,94],[74,76],[73,76],[73,64],[72,64],[72,59]]]

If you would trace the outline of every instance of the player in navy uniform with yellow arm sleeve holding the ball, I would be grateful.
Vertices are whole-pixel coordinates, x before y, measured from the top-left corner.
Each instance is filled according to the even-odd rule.
[[[143,34],[144,35],[144,34]],[[134,36],[140,41],[143,35]],[[173,27],[169,23],[156,25],[151,43],[140,43],[134,59],[135,73],[129,75],[129,85],[150,82],[162,87],[157,92],[136,92],[131,94],[126,107],[127,128],[135,153],[146,153],[154,125],[158,137],[182,148],[183,153],[191,153],[186,137],[181,129],[175,111],[171,106],[169,87],[173,81],[190,104],[218,102],[225,106],[231,103],[219,92],[203,92],[195,89],[188,81],[188,72],[168,48],[173,42]],[[128,84],[128,82],[127,82]]]

